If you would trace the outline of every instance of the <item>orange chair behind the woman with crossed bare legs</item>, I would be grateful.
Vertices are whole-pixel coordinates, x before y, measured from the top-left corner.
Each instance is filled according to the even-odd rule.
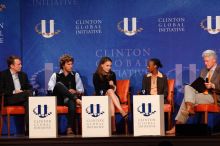
[[[126,112],[130,112],[130,80],[117,80],[117,94],[120,97],[120,102],[122,109]],[[116,109],[115,113],[119,113],[119,110]],[[125,120],[125,134],[128,134],[128,121]]]

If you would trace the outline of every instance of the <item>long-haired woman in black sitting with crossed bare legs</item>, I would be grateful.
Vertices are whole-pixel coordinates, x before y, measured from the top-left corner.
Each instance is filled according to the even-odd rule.
[[[112,68],[112,60],[109,57],[101,58],[96,72],[93,75],[93,84],[96,95],[107,95],[111,98],[111,123],[112,132],[116,132],[115,127],[115,107],[120,111],[123,118],[127,118],[127,113],[122,109],[118,96],[116,95],[116,76]]]

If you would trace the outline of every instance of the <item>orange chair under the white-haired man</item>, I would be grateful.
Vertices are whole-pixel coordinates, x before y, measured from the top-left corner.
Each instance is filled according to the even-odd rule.
[[[217,94],[220,94],[220,91],[213,90],[212,95],[214,98],[213,104],[198,104],[194,106],[194,111],[203,113],[203,123],[208,124],[208,113],[219,113],[220,112],[220,106],[217,104]]]

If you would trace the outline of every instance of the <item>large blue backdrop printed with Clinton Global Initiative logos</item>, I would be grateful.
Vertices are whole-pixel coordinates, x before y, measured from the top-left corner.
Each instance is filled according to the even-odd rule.
[[[157,57],[164,65],[161,71],[176,80],[175,102],[179,105],[184,83],[192,82],[203,66],[201,53],[211,48],[219,54],[219,0],[0,3],[6,5],[0,11],[0,26],[4,23],[0,31],[5,40],[0,43],[1,69],[6,67],[9,54],[21,55],[23,70],[42,95],[64,53],[75,58],[74,69],[80,73],[88,95],[94,92],[92,74],[102,56],[112,58],[117,79],[131,80],[133,94],[141,88],[146,61]]]

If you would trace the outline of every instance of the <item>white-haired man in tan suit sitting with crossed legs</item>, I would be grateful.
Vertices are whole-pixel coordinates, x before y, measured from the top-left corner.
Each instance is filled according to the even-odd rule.
[[[190,85],[186,85],[184,89],[184,99],[175,118],[176,124],[185,124],[190,115],[194,113],[194,105],[196,104],[212,104],[212,90],[220,90],[220,66],[217,65],[217,55],[213,50],[206,50],[202,53],[205,68],[200,72],[200,77],[206,80],[206,91],[199,93]],[[220,101],[218,97],[218,101]],[[167,134],[175,133],[175,126],[166,132]]]

